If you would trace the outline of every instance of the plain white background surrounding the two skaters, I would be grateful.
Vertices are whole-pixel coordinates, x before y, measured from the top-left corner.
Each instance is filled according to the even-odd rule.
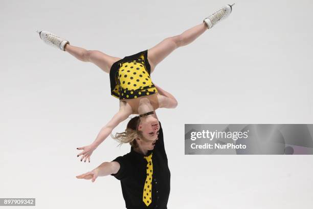
[[[108,137],[90,163],[76,157],[118,111],[109,75],[44,44],[36,30],[123,58],[232,3],[2,0],[0,197],[36,198],[36,208],[125,205],[114,177],[75,178],[130,149]],[[178,100],[176,109],[157,110],[171,171],[168,208],[311,208],[311,155],[184,155],[185,123],[313,122],[312,2],[235,3],[226,20],[151,74]]]

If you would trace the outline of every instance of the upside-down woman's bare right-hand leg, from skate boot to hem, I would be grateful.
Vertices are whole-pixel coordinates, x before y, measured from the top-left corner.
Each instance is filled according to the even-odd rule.
[[[151,66],[151,73],[153,72],[155,66],[157,66],[172,51],[178,47],[190,44],[206,30],[208,30],[208,26],[205,23],[202,23],[184,31],[180,35],[165,38],[158,45],[149,49],[148,61]]]

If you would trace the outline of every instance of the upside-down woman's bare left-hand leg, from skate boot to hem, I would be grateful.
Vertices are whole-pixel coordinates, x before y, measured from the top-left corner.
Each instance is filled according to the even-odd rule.
[[[109,56],[98,50],[86,50],[84,48],[75,47],[69,44],[65,45],[64,50],[81,61],[94,63],[107,73],[110,72],[110,68],[114,62],[121,59],[119,57]]]

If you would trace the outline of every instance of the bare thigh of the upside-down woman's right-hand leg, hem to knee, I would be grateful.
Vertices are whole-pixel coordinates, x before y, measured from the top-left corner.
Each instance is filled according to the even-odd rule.
[[[148,49],[148,61],[151,66],[151,73],[165,57],[179,46],[180,36],[172,36],[165,38],[159,44]]]

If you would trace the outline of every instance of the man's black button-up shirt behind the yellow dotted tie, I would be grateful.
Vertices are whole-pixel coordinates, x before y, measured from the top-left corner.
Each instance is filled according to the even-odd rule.
[[[167,156],[164,148],[163,130],[160,124],[159,139],[155,142],[154,149],[148,151],[147,155],[137,153],[131,147],[126,155],[119,156],[113,161],[120,163],[120,170],[111,174],[121,181],[122,193],[126,208],[167,208],[167,201],[170,193],[170,171],[167,163]],[[146,206],[143,202],[143,189],[146,181],[147,160],[144,156],[152,154],[152,202]]]

